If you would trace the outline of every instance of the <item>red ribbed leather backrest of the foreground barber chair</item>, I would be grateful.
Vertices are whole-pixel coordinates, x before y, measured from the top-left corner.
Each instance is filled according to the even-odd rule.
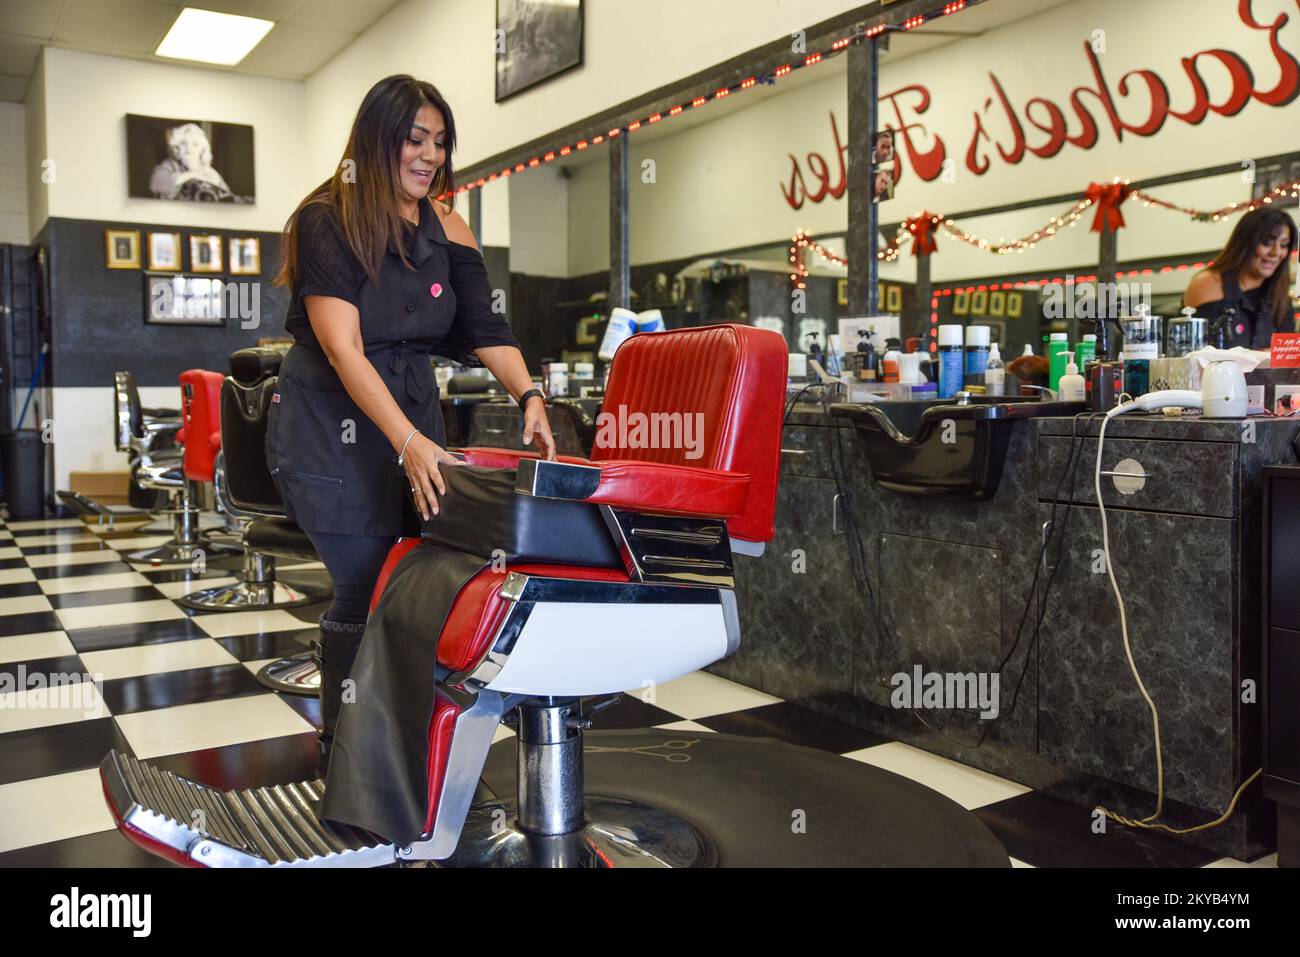
[[[592,459],[633,459],[748,475],[745,511],[727,523],[728,532],[746,541],[770,541],[786,369],[785,339],[768,329],[727,324],[633,335],[614,354]],[[668,423],[671,430],[673,420],[651,419],[655,412],[680,412],[676,436],[681,438],[688,436],[685,416],[701,413],[694,421],[702,428],[690,434],[694,447],[686,449],[681,441],[668,442],[670,447],[663,447],[663,441],[641,442],[642,447],[602,441],[624,434],[638,441],[633,432],[637,420],[629,417],[633,413],[649,423],[642,436],[662,439],[662,424]],[[628,424],[625,432],[620,421]]]

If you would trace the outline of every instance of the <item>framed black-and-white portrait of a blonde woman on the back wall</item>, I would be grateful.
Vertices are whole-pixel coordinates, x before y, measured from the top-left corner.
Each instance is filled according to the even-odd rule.
[[[252,126],[126,114],[127,195],[186,203],[252,203]]]

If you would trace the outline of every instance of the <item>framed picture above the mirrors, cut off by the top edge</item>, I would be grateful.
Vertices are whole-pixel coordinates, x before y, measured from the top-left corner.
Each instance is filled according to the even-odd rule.
[[[497,0],[497,103],[582,65],[582,0]]]

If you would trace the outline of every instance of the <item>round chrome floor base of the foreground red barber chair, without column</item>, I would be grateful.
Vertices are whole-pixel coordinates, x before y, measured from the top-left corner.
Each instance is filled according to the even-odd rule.
[[[519,828],[515,801],[469,810],[456,853],[441,867],[715,867],[714,845],[681,818],[619,797],[586,796],[586,824],[572,833]]]

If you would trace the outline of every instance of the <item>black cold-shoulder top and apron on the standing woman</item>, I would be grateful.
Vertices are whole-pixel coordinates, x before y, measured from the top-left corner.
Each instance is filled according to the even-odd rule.
[[[446,442],[432,354],[458,361],[484,346],[519,346],[502,316],[477,250],[447,239],[430,202],[404,235],[407,268],[389,250],[377,282],[343,238],[332,205],[298,218],[298,276],[285,329],[294,347],[280,369],[266,423],[266,462],[291,520],[306,532],[412,534],[410,482],[393,447],[352,402],[320,347],[308,295],[356,306],[365,355],[411,424]]]

